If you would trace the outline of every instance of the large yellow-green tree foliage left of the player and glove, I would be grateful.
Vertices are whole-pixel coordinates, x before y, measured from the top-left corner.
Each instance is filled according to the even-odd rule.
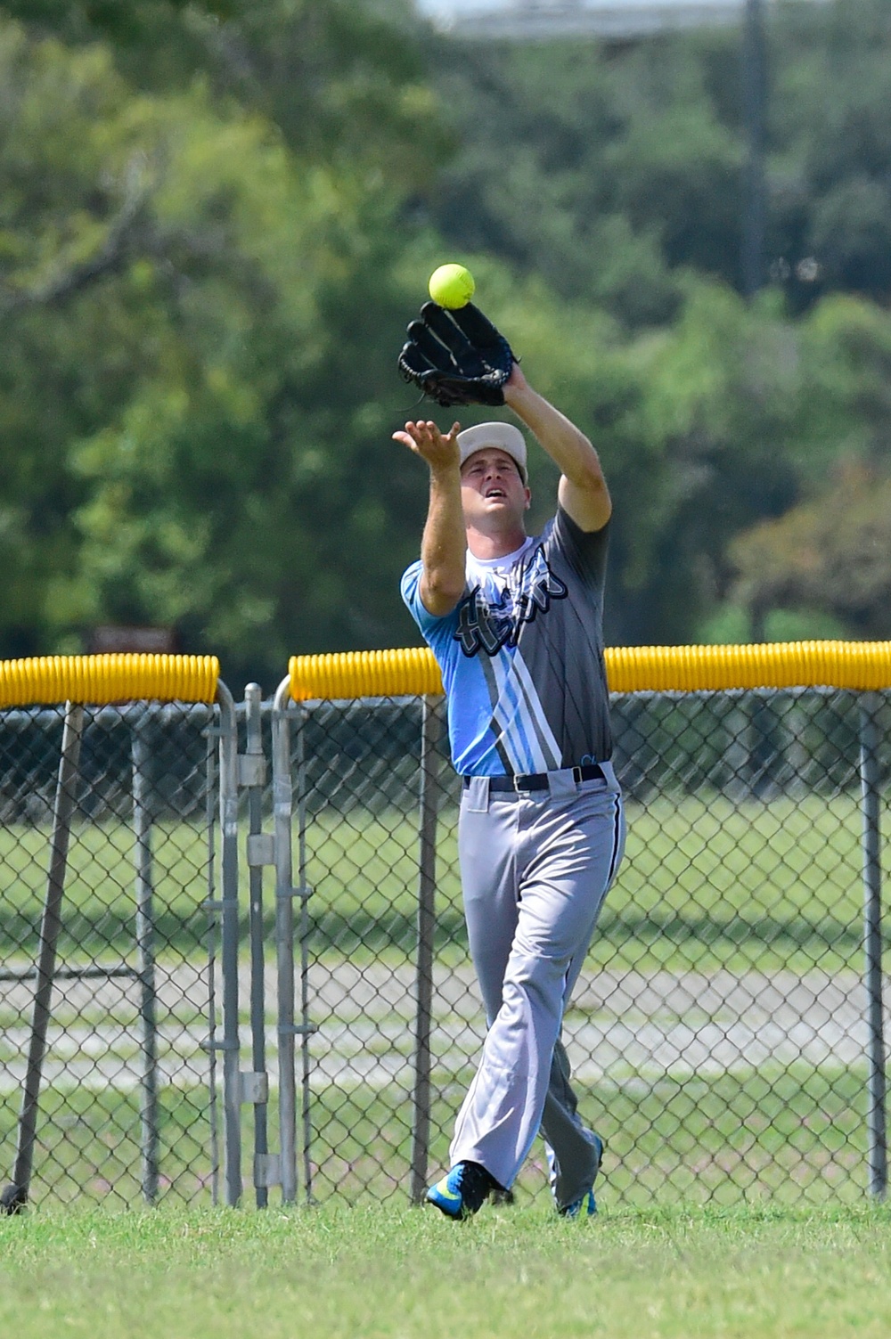
[[[107,48],[0,43],[8,652],[174,624],[273,682],[295,649],[391,640],[423,497],[387,467],[407,301],[383,158],[407,170],[410,119],[376,166],[324,162],[206,84],[135,94]]]

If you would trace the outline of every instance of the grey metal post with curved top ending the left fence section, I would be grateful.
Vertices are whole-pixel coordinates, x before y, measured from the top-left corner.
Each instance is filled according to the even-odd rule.
[[[238,1062],[238,739],[232,694],[217,683],[220,704],[220,828],[222,833],[222,1111],[225,1202],[241,1198],[241,1075]]]

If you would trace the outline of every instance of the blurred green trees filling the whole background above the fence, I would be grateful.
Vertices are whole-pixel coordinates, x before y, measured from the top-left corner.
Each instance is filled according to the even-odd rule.
[[[768,39],[746,301],[733,29],[0,4],[0,653],[155,624],[269,688],[417,640],[395,352],[446,258],[602,451],[610,641],[891,635],[891,16],[781,4]],[[533,490],[541,521],[540,457]]]

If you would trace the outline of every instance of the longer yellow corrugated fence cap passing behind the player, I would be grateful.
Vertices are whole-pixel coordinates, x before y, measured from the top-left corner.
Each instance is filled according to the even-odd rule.
[[[891,687],[891,641],[765,641],[752,645],[607,647],[611,692]],[[292,656],[295,702],[441,694],[427,647]]]

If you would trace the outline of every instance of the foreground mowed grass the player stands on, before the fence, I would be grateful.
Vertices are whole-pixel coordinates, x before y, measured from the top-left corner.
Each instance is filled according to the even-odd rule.
[[[886,1339],[887,1208],[35,1213],[0,1220],[16,1339]]]

